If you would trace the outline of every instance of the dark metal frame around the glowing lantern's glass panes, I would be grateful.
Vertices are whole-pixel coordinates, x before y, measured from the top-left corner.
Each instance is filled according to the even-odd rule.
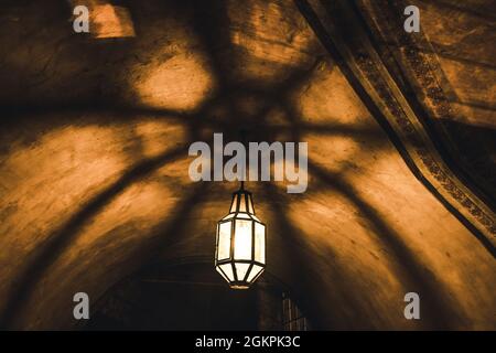
[[[251,222],[251,256],[250,259],[237,259],[235,258],[235,238],[236,238],[236,221],[249,221]],[[229,256],[227,258],[218,259],[219,256],[219,238],[220,238],[220,226],[230,222],[230,246]],[[256,259],[256,224],[263,226],[263,255],[262,260]],[[251,197],[251,193],[244,189],[244,183],[241,188],[233,193],[233,201],[230,204],[229,213],[217,222],[217,234],[216,234],[216,245],[215,245],[215,268],[216,270],[226,279],[230,288],[234,289],[247,289],[252,285],[265,271],[267,263],[267,225],[261,222],[255,215],[255,207]],[[248,264],[249,267],[245,272],[242,278],[238,278],[238,268],[236,264]],[[229,278],[228,274],[223,270],[223,265],[230,265],[233,279]],[[258,274],[250,278],[251,271],[257,270],[255,266],[260,267]],[[249,279],[250,278],[250,279]],[[248,280],[249,279],[249,280]]]

